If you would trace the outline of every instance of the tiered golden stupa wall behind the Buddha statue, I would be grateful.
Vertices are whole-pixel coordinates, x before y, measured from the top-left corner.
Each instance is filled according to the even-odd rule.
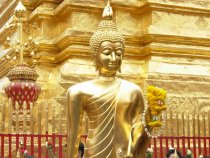
[[[69,86],[96,76],[89,53],[89,39],[101,20],[104,1],[22,0],[28,18],[24,39],[39,42],[36,54],[38,83],[46,99],[65,116]],[[12,25],[16,0],[1,2],[0,76],[11,63],[3,44],[18,38]],[[168,91],[173,112],[209,112],[210,109],[210,1],[209,0],[112,0],[114,21],[125,35],[126,52],[120,77]],[[3,82],[5,79],[2,79]],[[4,86],[3,84],[1,86]],[[59,110],[58,110],[59,109]],[[35,111],[38,111],[35,109]],[[44,112],[43,112],[44,119]],[[192,118],[192,115],[191,115]],[[52,115],[49,120],[52,122]],[[208,121],[208,120],[207,120]],[[63,118],[65,124],[65,118]],[[59,127],[58,127],[59,129]],[[59,130],[57,130],[59,131]]]

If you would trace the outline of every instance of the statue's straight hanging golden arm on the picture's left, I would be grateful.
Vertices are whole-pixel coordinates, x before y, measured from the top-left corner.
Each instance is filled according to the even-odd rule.
[[[81,94],[74,88],[70,88],[67,93],[67,110],[68,158],[77,158],[78,145],[81,135],[83,105]]]

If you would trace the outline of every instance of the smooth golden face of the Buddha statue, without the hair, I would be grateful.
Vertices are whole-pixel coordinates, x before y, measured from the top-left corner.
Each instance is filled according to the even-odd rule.
[[[102,42],[96,56],[96,66],[99,72],[116,74],[120,70],[123,53],[121,42]]]

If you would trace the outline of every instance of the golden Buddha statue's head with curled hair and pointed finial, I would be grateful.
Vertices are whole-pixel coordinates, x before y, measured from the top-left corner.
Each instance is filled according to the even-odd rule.
[[[109,2],[104,9],[103,20],[90,39],[90,49],[99,73],[115,75],[120,71],[124,55],[124,39],[112,21],[112,8]]]

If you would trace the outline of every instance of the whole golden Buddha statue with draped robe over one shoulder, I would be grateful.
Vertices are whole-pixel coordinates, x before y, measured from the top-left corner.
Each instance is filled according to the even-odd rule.
[[[98,76],[72,86],[67,92],[68,158],[77,157],[84,112],[89,127],[85,158],[145,156],[149,138],[140,119],[144,110],[141,89],[116,77],[124,46],[108,2],[103,20],[90,39]]]

